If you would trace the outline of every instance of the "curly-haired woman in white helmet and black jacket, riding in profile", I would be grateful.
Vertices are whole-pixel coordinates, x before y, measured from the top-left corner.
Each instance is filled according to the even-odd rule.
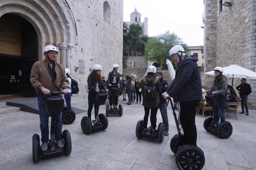
[[[95,98],[97,93],[100,90],[104,89],[108,92],[108,89],[101,82],[101,70],[102,67],[99,64],[94,64],[92,68],[92,72],[89,74],[87,83],[88,83],[88,117],[91,119],[92,107],[94,105],[94,113],[96,112],[96,102]],[[93,125],[93,124],[92,124]]]

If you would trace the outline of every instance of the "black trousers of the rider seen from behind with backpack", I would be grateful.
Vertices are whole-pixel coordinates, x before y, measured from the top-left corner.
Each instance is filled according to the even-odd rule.
[[[145,110],[145,115],[144,115],[144,122],[143,122],[143,126],[144,126],[144,129],[147,128],[147,122],[148,122],[148,116],[149,116],[149,111],[150,111],[150,108],[147,108],[144,106],[144,110]],[[150,122],[151,122],[151,126],[153,129],[156,128],[156,114],[157,114],[157,110],[158,110],[158,107],[157,108],[151,108],[151,113],[150,113]]]

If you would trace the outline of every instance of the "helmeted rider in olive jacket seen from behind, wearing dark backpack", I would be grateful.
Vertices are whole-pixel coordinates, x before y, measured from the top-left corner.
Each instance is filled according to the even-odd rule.
[[[156,67],[155,66],[149,66],[147,68],[146,74],[145,76],[143,76],[141,82],[137,85],[137,88],[142,88],[143,89],[143,95],[145,94],[145,87],[146,86],[155,86],[155,99],[150,99],[149,97],[143,96],[143,105],[144,105],[144,110],[145,110],[145,114],[144,114],[144,129],[143,129],[143,133],[147,132],[147,122],[148,122],[148,116],[149,116],[149,111],[151,109],[151,113],[150,113],[150,122],[151,122],[151,126],[152,126],[152,134],[156,134],[157,130],[156,130],[156,114],[157,114],[157,110],[159,107],[159,91],[162,90],[162,86],[161,83],[159,81],[159,77],[156,76]]]

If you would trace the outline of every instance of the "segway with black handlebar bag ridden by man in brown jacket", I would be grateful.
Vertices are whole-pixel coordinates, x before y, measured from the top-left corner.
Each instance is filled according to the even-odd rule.
[[[59,96],[63,92],[53,91],[52,94],[45,101],[45,107],[47,114],[51,116],[51,139],[48,142],[48,149],[42,151],[40,149],[40,139],[38,134],[34,134],[32,137],[32,150],[33,150],[33,162],[39,161],[39,156],[42,155],[42,158],[48,158],[50,156],[65,154],[69,155],[71,153],[71,137],[69,131],[66,129],[62,132],[62,142],[64,143],[63,148],[59,148],[57,142],[55,141],[55,121],[56,116],[59,115],[64,106],[64,99]]]

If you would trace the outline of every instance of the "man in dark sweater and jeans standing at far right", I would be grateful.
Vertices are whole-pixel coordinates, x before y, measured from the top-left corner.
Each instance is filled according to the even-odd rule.
[[[239,91],[239,95],[241,98],[241,107],[242,107],[241,113],[244,113],[244,106],[245,106],[246,115],[248,116],[249,110],[247,105],[247,99],[248,99],[248,95],[252,93],[251,86],[250,84],[246,83],[246,79],[242,78],[241,84],[237,86],[236,89]]]

